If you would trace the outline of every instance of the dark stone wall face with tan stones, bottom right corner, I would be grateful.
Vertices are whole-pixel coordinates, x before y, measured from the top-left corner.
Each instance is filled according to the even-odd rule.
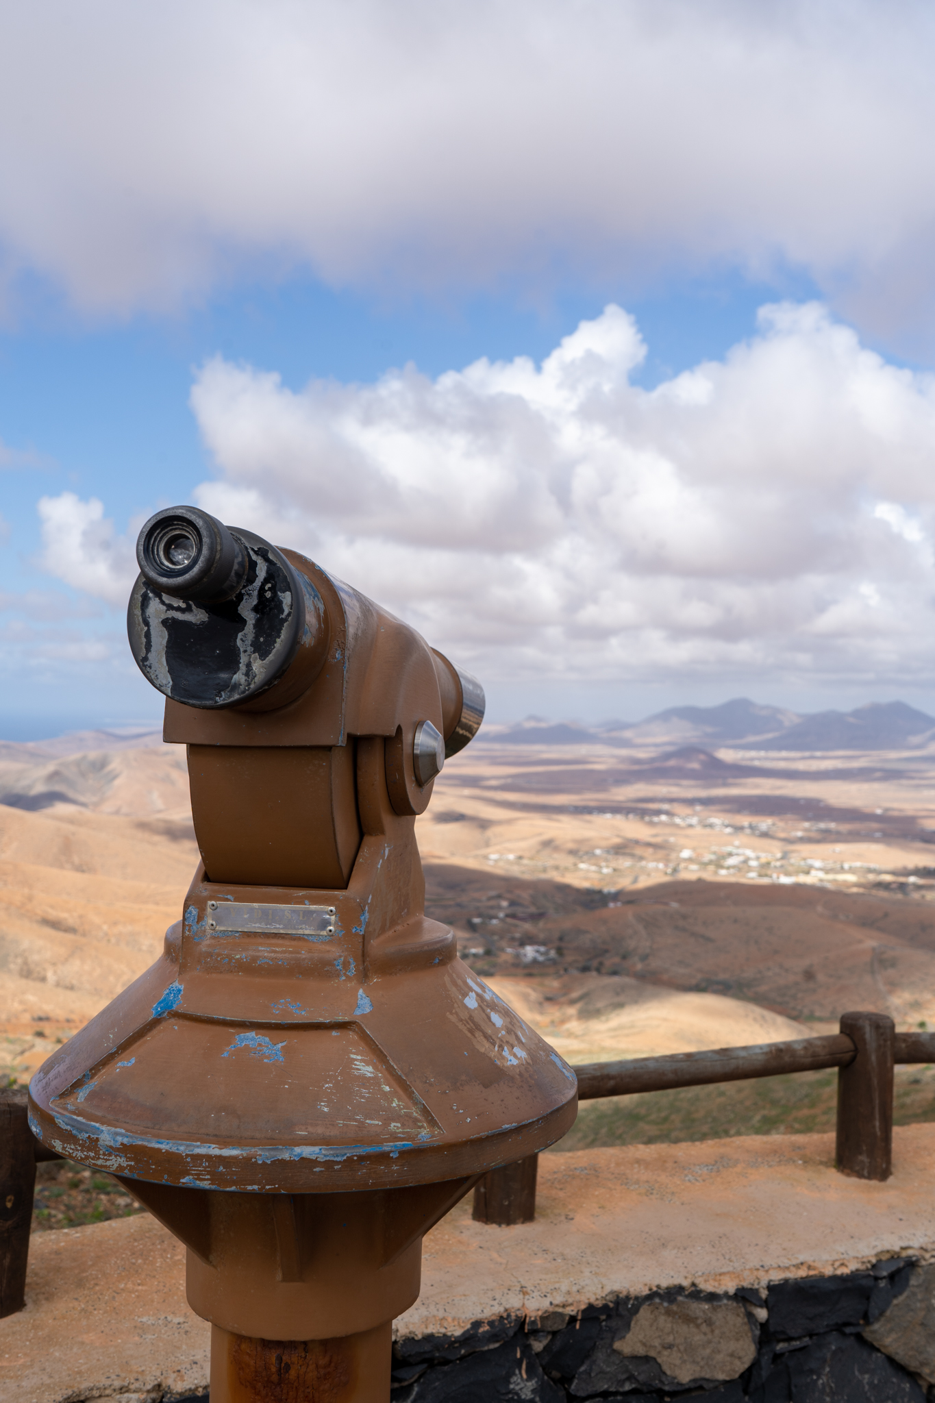
[[[393,1403],[924,1403],[935,1397],[935,1267],[655,1291],[398,1340]]]

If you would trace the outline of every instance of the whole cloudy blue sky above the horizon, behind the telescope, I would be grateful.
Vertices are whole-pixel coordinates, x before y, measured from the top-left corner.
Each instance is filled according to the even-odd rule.
[[[158,718],[172,502],[496,720],[935,711],[934,60],[915,0],[0,6],[0,738]]]

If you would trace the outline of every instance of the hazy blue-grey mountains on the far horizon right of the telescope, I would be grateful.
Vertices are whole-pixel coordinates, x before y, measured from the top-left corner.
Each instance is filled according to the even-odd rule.
[[[586,727],[528,717],[488,734],[498,745],[714,745],[757,751],[900,751],[935,741],[935,717],[906,702],[869,702],[852,711],[799,714],[735,697],[721,706],[677,706],[643,721]]]

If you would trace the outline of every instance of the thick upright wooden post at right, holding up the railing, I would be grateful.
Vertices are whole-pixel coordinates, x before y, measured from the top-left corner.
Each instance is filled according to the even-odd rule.
[[[856,1179],[889,1179],[896,1028],[886,1013],[844,1013],[841,1033],[856,1056],[838,1070],[837,1167]]]

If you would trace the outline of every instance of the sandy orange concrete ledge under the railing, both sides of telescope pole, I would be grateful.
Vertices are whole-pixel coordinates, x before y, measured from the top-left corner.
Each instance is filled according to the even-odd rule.
[[[486,1330],[495,1344],[520,1330],[538,1357],[542,1341],[585,1312],[673,1289],[715,1303],[736,1296],[756,1331],[771,1284],[861,1273],[872,1282],[886,1278],[890,1258],[907,1258],[918,1273],[935,1257],[935,1125],[896,1129],[894,1173],[883,1184],[838,1174],[833,1153],[831,1135],[775,1135],[542,1155],[534,1223],[475,1223],[468,1198],[429,1233],[422,1295],[397,1322],[397,1352],[405,1361],[419,1355],[418,1341],[426,1341],[426,1355],[432,1338]],[[203,1393],[209,1327],[185,1303],[184,1260],[149,1216],[34,1236],[27,1308],[0,1320],[0,1403],[156,1403]],[[622,1343],[613,1345],[618,1361],[635,1352]],[[910,1371],[910,1392],[894,1396],[911,1399],[918,1388],[922,1397],[928,1364],[904,1360],[883,1336],[876,1343]],[[439,1357],[460,1355],[440,1344]],[[674,1365],[666,1368],[662,1385],[646,1386],[670,1386]],[[408,1392],[398,1396],[433,1399],[425,1378],[425,1364],[404,1368],[398,1382]],[[582,1378],[579,1369],[566,1385],[576,1397],[586,1396]],[[739,1375],[701,1369],[698,1378],[704,1390]],[[566,1393],[541,1375],[540,1392],[521,1396]]]

